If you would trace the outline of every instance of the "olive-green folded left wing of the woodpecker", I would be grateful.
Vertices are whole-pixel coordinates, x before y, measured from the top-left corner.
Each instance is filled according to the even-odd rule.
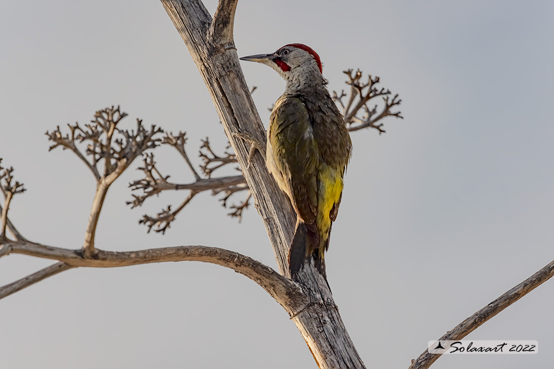
[[[268,138],[296,214],[306,224],[314,224],[320,154],[304,102],[296,97],[280,98],[271,113]]]

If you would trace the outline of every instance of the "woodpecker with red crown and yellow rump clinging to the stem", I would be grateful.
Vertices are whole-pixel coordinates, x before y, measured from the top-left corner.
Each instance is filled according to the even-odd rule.
[[[265,162],[297,215],[288,256],[291,278],[313,257],[327,280],[325,251],[341,203],[352,141],[327,90],[320,57],[309,46],[289,44],[273,54],[240,59],[268,65],[286,81],[271,112]]]

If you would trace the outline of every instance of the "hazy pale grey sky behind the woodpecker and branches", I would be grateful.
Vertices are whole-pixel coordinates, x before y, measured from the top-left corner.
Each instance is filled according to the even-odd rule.
[[[207,1],[213,14],[216,1]],[[361,68],[402,98],[387,133],[352,134],[353,158],[333,227],[327,274],[346,327],[368,368],[407,368],[427,341],[554,258],[554,3],[550,1],[240,0],[239,55],[301,42],[324,63],[331,89]],[[243,62],[260,116],[284,90],[271,69]],[[33,241],[79,248],[95,182],[74,155],[48,153],[44,132],[88,122],[121,105],[226,142],[211,98],[158,1],[0,3],[0,157],[28,192],[11,219]],[[175,150],[160,169],[192,175]],[[136,164],[139,164],[137,161]],[[136,167],[136,165],[135,165]],[[131,211],[129,170],[110,189],[97,247],[207,245],[276,268],[257,211],[242,224],[209,193],[197,196],[165,236],[142,214],[176,206],[163,194]],[[235,202],[242,198],[236,198]],[[52,261],[0,259],[0,284]],[[468,338],[538,340],[537,355],[440,358],[433,368],[543,368],[554,363],[549,281]],[[0,367],[315,368],[285,311],[257,284],[203,263],[74,269],[0,301]]]

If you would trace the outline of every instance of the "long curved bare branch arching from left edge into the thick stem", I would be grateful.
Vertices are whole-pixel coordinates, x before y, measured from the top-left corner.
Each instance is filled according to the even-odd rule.
[[[19,253],[59,261],[42,271],[0,287],[0,298],[75,267],[112,268],[148,263],[201,261],[233,269],[252,279],[279,302],[290,315],[299,313],[308,303],[299,285],[290,279],[248,256],[218,247],[176,246],[125,252],[96,250],[94,258],[86,258],[82,256],[80,250],[68,250],[33,242],[6,242],[0,246],[2,246],[2,250],[7,250],[5,254]]]

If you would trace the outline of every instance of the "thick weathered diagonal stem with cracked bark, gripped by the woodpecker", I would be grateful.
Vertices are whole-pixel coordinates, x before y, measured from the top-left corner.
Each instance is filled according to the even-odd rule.
[[[233,133],[247,132],[265,142],[265,129],[254,106],[233,43],[238,0],[221,0],[214,20],[199,0],[162,0],[163,7],[191,53],[212,97],[225,134],[233,146],[254,203],[268,232],[279,271],[288,275],[287,254],[296,216],[268,173],[261,155],[247,168],[247,143]],[[309,302],[291,314],[320,368],[365,368],[342,323],[331,292],[313,263],[306,263],[299,283]]]

